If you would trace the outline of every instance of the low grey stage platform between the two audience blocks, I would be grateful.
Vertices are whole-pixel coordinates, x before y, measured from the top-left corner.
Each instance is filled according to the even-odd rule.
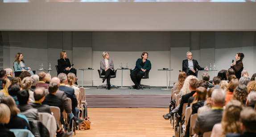
[[[85,90],[85,94],[90,108],[169,108],[171,98],[171,90],[161,90],[166,87],[151,87],[143,90],[89,88]]]

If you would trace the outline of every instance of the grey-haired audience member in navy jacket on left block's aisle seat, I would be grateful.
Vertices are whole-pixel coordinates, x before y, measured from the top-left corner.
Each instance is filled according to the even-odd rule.
[[[72,102],[72,113],[74,114],[75,117],[78,117],[78,102],[77,98],[74,95],[74,89],[66,86],[67,83],[67,76],[65,73],[60,73],[58,74],[58,78],[60,79],[60,86],[59,90],[64,91],[66,93],[66,97],[71,99]]]

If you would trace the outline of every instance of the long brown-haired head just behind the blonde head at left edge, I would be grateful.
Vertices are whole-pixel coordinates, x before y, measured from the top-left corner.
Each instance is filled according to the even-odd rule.
[[[13,116],[16,116],[20,112],[20,110],[18,109],[18,107],[15,104],[14,99],[10,96],[2,98],[1,103],[6,104],[9,107],[9,109],[11,110],[11,118]]]

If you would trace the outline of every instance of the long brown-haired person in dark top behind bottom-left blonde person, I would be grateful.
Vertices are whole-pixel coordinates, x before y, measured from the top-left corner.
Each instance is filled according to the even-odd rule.
[[[6,104],[11,110],[11,119],[5,127],[8,129],[29,129],[29,121],[25,115],[18,114],[20,110],[17,108],[14,99],[12,97],[5,97],[1,103]]]

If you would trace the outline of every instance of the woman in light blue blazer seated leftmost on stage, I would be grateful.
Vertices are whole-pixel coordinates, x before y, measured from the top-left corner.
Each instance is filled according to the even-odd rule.
[[[17,53],[16,54],[15,61],[13,63],[13,67],[14,67],[14,72],[17,72],[17,71],[28,71],[31,75],[34,74],[30,67],[26,67],[25,66],[25,62],[23,60],[22,53]]]

